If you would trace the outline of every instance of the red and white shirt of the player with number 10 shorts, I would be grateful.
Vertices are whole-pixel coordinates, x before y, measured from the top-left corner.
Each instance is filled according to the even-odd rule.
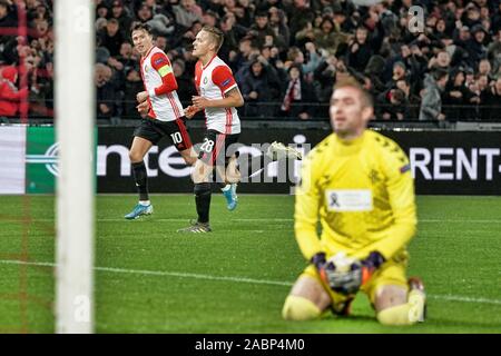
[[[167,55],[158,47],[151,47],[140,63],[143,83],[148,91],[148,116],[160,121],[174,121],[183,117],[176,77]]]

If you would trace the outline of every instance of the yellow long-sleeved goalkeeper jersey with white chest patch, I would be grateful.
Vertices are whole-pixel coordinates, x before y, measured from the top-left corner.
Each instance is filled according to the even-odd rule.
[[[330,135],[303,161],[294,218],[308,260],[318,251],[365,258],[377,250],[386,259],[405,253],[416,227],[406,155],[372,130],[352,141]]]

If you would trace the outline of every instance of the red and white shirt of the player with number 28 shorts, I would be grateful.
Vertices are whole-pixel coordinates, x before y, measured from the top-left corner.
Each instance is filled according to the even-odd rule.
[[[232,69],[217,56],[205,67],[197,62],[195,85],[199,95],[209,100],[224,99],[226,92],[237,87]],[[235,108],[206,108],[205,118],[208,130],[226,135],[240,132],[240,119]]]

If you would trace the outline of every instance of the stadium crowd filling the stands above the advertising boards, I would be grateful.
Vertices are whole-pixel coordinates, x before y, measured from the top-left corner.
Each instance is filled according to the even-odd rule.
[[[16,1],[0,0],[0,117],[18,115],[23,91],[31,116],[52,115],[52,1],[23,3],[27,36]],[[424,9],[422,32],[410,31],[411,6]],[[333,85],[353,76],[373,93],[379,120],[501,119],[500,0],[96,0],[98,118],[137,117],[137,21],[153,27],[186,105],[196,93],[191,42],[210,24],[225,33],[219,56],[244,117],[327,117]]]

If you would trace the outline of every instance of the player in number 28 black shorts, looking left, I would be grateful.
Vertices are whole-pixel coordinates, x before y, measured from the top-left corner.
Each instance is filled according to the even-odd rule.
[[[223,44],[223,33],[214,27],[204,27],[194,41],[193,55],[199,60],[195,67],[195,85],[199,96],[186,110],[191,118],[204,110],[207,131],[200,146],[198,160],[193,171],[195,201],[198,219],[183,233],[208,233],[210,208],[209,176],[214,168],[227,200],[229,210],[236,208],[236,182],[239,172],[236,168],[236,145],[240,134],[240,119],[236,107],[244,105],[238,86],[229,67],[217,57]]]

